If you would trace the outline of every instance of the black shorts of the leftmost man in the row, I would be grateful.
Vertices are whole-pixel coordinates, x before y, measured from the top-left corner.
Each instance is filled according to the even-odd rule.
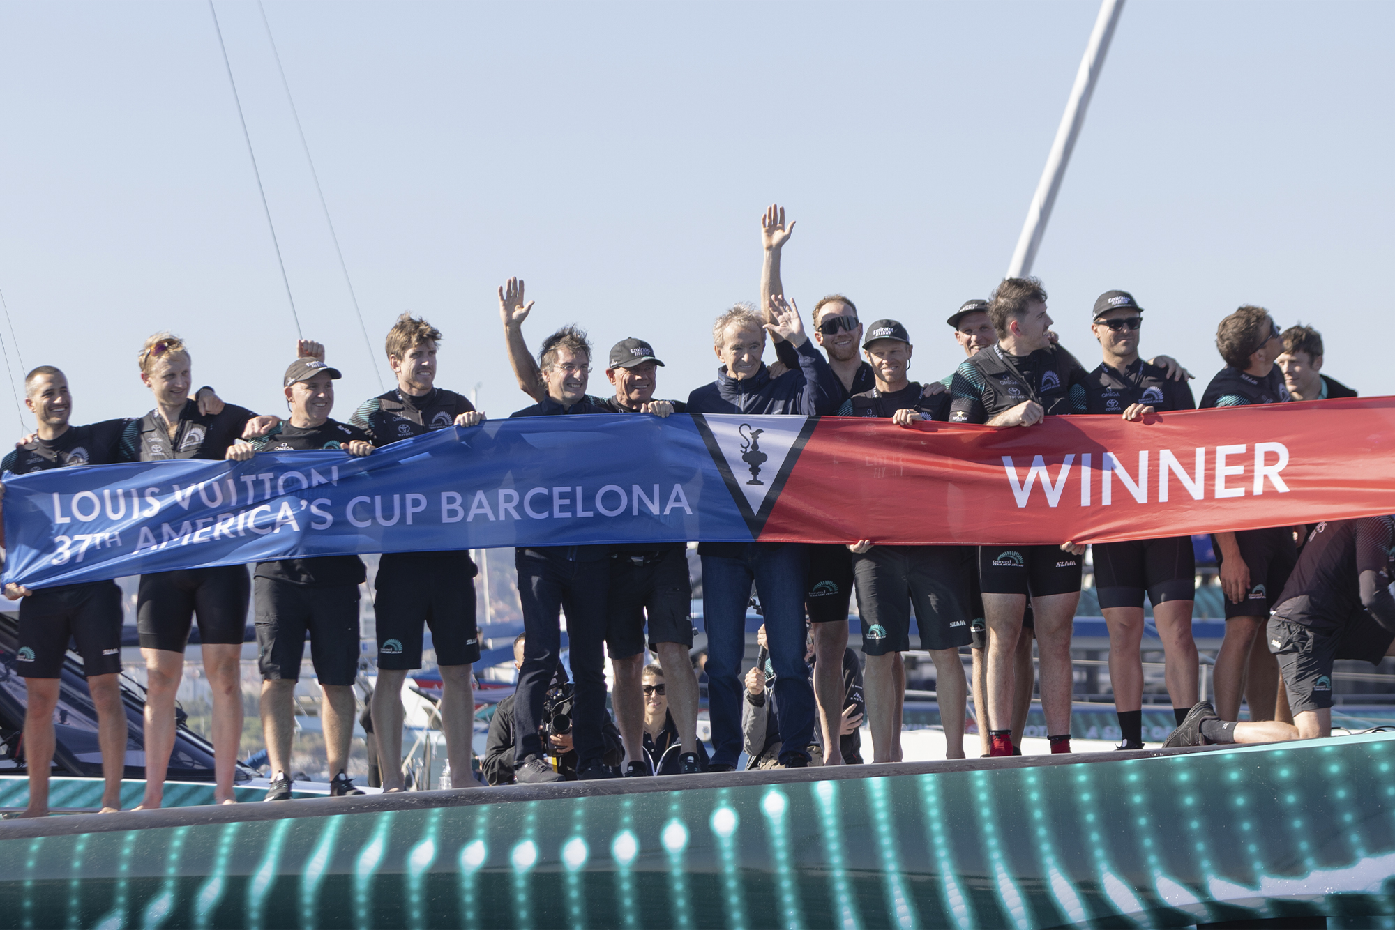
[[[15,673],[60,678],[70,640],[78,643],[88,678],[121,671],[121,588],[116,581],[39,588],[21,600]]]

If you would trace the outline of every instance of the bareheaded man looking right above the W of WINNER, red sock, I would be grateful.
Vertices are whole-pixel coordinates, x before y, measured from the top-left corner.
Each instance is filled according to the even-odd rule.
[[[1031,427],[1046,416],[1084,409],[1085,372],[1052,344],[1046,291],[1035,277],[1009,277],[993,291],[989,318],[997,343],[954,372],[951,422]],[[1013,754],[1014,655],[1031,597],[1041,655],[1042,711],[1053,753],[1070,752],[1071,623],[1080,601],[1084,547],[992,545],[979,548],[988,626],[986,687],[990,753]]]

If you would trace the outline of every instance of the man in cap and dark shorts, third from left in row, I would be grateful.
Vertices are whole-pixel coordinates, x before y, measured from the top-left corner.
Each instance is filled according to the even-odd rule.
[[[290,420],[252,442],[237,442],[227,459],[248,462],[258,452],[342,449],[352,456],[372,452],[368,435],[331,420],[338,368],[301,357],[286,368],[285,390]],[[359,584],[364,580],[357,555],[322,555],[258,562],[252,572],[257,612],[258,666],[262,673],[261,718],[271,763],[266,800],[289,800],[290,746],[294,736],[294,694],[300,660],[310,634],[310,658],[324,700],[325,756],[332,777],[329,795],[361,795],[349,778],[354,693],[359,672]],[[465,771],[470,771],[466,768]]]

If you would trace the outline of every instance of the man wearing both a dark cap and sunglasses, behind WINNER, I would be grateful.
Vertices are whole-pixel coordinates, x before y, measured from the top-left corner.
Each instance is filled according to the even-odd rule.
[[[1095,300],[1091,330],[1103,361],[1085,378],[1085,413],[1131,422],[1169,410],[1196,410],[1191,388],[1138,357],[1143,307],[1126,290]],[[1101,542],[1094,547],[1095,590],[1109,627],[1109,680],[1123,742],[1143,749],[1143,598],[1152,602],[1177,725],[1197,703],[1197,644],[1191,639],[1196,556],[1191,537]]]

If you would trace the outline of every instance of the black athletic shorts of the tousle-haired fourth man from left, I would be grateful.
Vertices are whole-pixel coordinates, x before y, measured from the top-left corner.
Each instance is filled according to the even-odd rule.
[[[384,554],[374,579],[378,668],[421,668],[423,629],[431,627],[437,665],[480,661],[474,576],[467,552]]]

